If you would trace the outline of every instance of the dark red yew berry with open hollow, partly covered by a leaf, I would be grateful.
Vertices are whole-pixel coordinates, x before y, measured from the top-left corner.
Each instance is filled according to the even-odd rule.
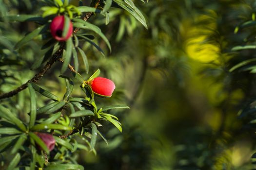
[[[72,22],[70,22],[67,35],[65,37],[62,37],[62,31],[64,28],[64,19],[65,19],[64,16],[57,16],[53,18],[53,21],[50,25],[51,34],[58,41],[66,41],[72,35],[72,32],[73,32],[73,24]]]

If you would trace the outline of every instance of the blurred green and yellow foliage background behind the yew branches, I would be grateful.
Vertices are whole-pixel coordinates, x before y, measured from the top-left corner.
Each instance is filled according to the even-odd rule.
[[[3,2],[13,7],[13,14],[39,10],[36,0]],[[78,1],[71,3],[77,5]],[[240,118],[237,113],[256,96],[256,79],[250,71],[229,70],[256,57],[255,50],[232,51],[237,45],[255,42],[255,26],[237,26],[255,20],[256,1],[135,3],[147,18],[148,30],[118,8],[111,8],[108,25],[102,16],[89,20],[100,26],[113,51],[109,53],[98,39],[105,49],[104,57],[85,43],[82,48],[89,59],[90,73],[79,72],[89,77],[100,68],[100,76],[112,79],[117,88],[111,99],[98,102],[127,104],[131,109],[114,112],[120,118],[123,132],[112,125],[102,129],[109,144],[98,142],[97,155],[81,151],[74,157],[86,170],[253,169],[255,127],[248,125],[251,118]],[[17,36],[21,38],[35,28],[33,23],[21,24],[1,25],[0,32],[17,42]],[[20,51],[21,66],[8,70],[14,78],[1,82],[1,92],[26,82],[36,73],[29,66],[40,53],[38,46],[30,43]],[[60,67],[54,66],[39,84],[62,96],[65,85],[58,78]],[[15,72],[18,68],[22,69],[19,73]],[[17,103],[19,98],[26,98],[26,93],[12,99],[16,107],[26,107],[24,102]],[[76,95],[81,95],[79,89]],[[43,105],[44,100],[39,103]]]

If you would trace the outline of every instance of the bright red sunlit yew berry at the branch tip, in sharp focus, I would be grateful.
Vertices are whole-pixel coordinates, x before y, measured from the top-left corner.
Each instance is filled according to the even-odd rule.
[[[114,82],[103,77],[93,79],[91,87],[95,93],[103,96],[112,96],[112,93],[116,88]]]

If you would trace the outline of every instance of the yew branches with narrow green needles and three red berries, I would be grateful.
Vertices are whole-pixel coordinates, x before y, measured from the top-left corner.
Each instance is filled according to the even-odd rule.
[[[0,0],[0,169],[83,170],[76,152],[96,154],[97,140],[108,143],[105,125],[122,132],[111,110],[129,107],[97,102],[116,86],[100,68],[89,69],[94,56],[82,48],[111,52],[94,23],[104,17],[107,29],[114,8],[147,28],[132,0]],[[45,76],[56,72],[58,78]]]

